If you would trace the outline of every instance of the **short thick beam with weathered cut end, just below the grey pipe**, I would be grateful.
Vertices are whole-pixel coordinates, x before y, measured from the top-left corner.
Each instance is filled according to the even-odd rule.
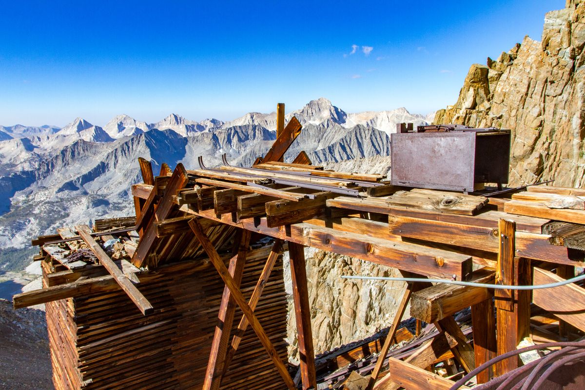
[[[473,272],[471,281],[493,283],[493,271]],[[426,323],[433,323],[469,306],[491,299],[493,293],[486,287],[436,284],[412,294],[410,315]]]

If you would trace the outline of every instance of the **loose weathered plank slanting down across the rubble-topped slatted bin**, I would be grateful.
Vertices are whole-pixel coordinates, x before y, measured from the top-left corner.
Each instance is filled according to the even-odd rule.
[[[101,246],[94,240],[94,237],[91,236],[90,227],[87,225],[79,225],[76,227],[77,232],[80,234],[81,238],[85,241],[86,244],[90,247],[91,251],[95,254],[98,258],[99,263],[104,265],[104,268],[108,270],[108,272],[112,275],[115,279],[116,283],[122,288],[122,290],[132,299],[132,302],[138,306],[140,311],[143,315],[148,315],[153,312],[153,307],[150,302],[144,298],[144,295],[132,284],[130,279],[123,274],[122,270],[118,268],[112,259],[105,253]]]

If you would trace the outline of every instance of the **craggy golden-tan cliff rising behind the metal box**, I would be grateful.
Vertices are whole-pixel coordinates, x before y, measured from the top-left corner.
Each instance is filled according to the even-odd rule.
[[[524,37],[472,65],[453,106],[434,123],[512,130],[510,184],[585,185],[585,1],[546,13],[542,42]]]

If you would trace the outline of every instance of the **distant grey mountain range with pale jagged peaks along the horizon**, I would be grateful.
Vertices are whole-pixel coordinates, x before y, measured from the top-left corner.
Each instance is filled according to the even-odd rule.
[[[432,116],[433,114],[431,114]],[[395,124],[431,122],[404,108],[346,113],[325,98],[296,116],[302,133],[288,159],[305,150],[314,163],[356,157],[388,156]],[[221,163],[250,165],[276,137],[276,113],[247,113],[222,122],[195,122],[171,114],[147,124],[118,115],[104,127],[77,118],[67,126],[0,126],[0,270],[22,268],[33,250],[30,239],[58,226],[89,223],[88,216],[132,215],[130,185],[140,180],[138,157],[195,167]]]

